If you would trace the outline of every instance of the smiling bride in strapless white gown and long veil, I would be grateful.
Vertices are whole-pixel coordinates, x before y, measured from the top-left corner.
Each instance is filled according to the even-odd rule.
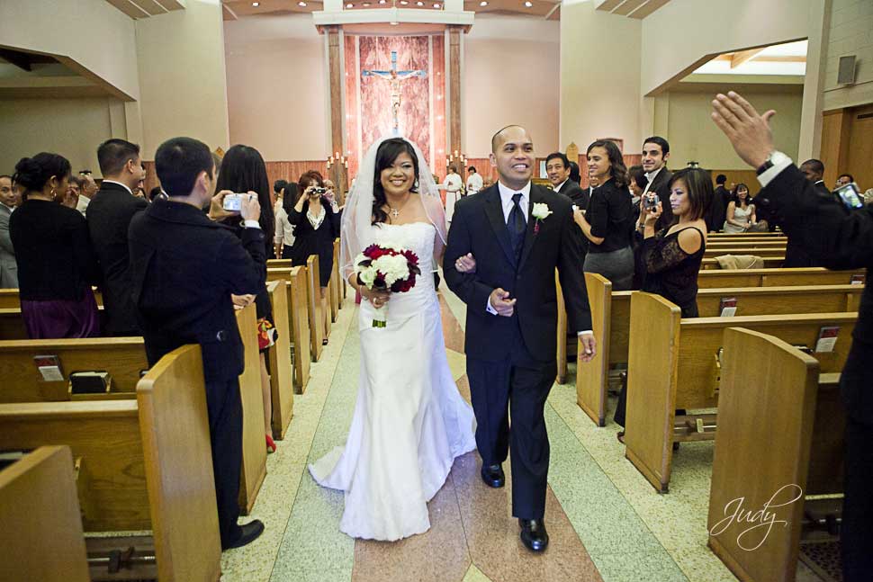
[[[310,465],[323,487],[346,493],[339,528],[355,538],[395,541],[430,528],[428,501],[455,457],[476,448],[473,408],[446,360],[434,277],[446,246],[446,219],[420,150],[403,138],[367,152],[342,222],[343,274],[363,296],[361,372],[345,448]],[[359,285],[355,257],[367,246],[405,246],[421,275],[406,293]],[[387,327],[373,327],[387,306]]]

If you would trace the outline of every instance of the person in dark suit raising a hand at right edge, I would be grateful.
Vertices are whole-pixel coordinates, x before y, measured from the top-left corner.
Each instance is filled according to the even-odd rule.
[[[741,95],[719,94],[713,119],[737,154],[758,168],[763,193],[784,219],[789,240],[831,269],[873,267],[873,209],[849,211],[824,196],[809,176],[777,151],[770,131],[773,111],[758,114]],[[869,275],[842,369],[840,388],[846,409],[845,499],[842,508],[842,575],[847,582],[869,580],[873,572],[873,281]],[[788,389],[788,387],[787,387]]]

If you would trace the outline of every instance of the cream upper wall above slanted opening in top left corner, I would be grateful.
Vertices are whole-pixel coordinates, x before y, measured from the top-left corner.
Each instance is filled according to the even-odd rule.
[[[139,98],[133,20],[105,0],[2,0],[0,45],[71,58]]]

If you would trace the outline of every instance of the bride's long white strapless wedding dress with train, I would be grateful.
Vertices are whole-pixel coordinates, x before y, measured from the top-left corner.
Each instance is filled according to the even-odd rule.
[[[425,222],[371,228],[375,242],[412,249],[421,275],[410,291],[392,294],[387,327],[373,327],[374,308],[361,302],[361,374],[346,446],[310,472],[346,492],[342,532],[394,541],[428,531],[428,501],[455,457],[476,448],[475,421],[446,359],[431,273],[436,229]]]

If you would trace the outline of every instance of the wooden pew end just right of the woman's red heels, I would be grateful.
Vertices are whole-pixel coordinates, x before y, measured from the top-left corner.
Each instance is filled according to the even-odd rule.
[[[291,364],[291,328],[288,315],[288,283],[269,282],[266,292],[273,306],[277,338],[269,349],[270,388],[273,393],[273,435],[283,439],[294,415],[294,372]]]

